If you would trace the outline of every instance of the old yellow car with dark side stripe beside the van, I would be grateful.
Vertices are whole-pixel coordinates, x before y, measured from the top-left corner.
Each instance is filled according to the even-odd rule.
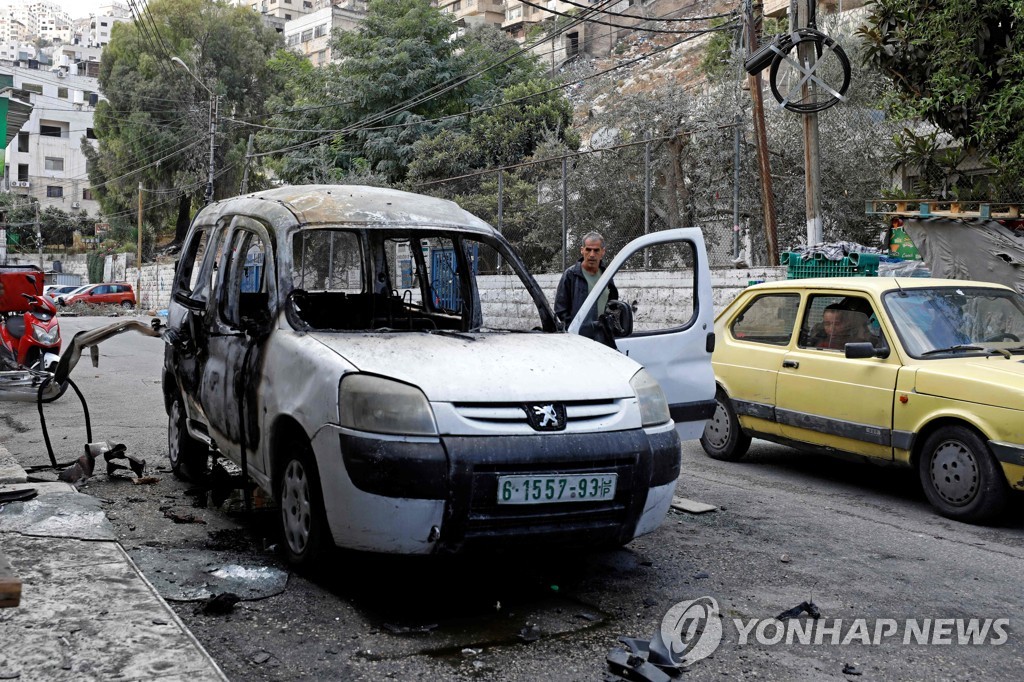
[[[1024,491],[1024,297],[958,280],[750,287],[715,321],[700,444],[751,437],[915,467],[939,513],[981,522]]]

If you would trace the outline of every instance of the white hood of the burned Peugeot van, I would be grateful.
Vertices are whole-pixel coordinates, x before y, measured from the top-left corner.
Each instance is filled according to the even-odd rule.
[[[360,372],[403,381],[442,402],[632,397],[640,366],[574,334],[323,334]]]

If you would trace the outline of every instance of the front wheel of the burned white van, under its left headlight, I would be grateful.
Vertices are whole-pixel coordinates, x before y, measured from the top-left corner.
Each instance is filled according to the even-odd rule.
[[[278,487],[285,556],[296,568],[310,568],[328,546],[319,475],[308,446],[290,455]]]

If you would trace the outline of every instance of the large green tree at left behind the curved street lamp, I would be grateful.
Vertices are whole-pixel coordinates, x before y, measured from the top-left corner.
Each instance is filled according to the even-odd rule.
[[[180,240],[206,191],[207,89],[221,98],[214,196],[227,197],[239,187],[248,130],[224,119],[263,113],[276,87],[268,61],[281,38],[259,14],[225,0],[152,0],[144,14],[144,22],[121,23],[112,32],[99,72],[105,97],[95,113],[99,144],[83,139],[82,148],[104,213],[133,211],[141,181],[147,217],[173,224]]]

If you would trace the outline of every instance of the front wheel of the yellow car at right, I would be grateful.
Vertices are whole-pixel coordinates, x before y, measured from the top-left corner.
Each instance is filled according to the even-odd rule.
[[[928,436],[919,473],[928,501],[948,518],[986,521],[1010,501],[1010,488],[995,458],[966,426],[943,426]]]

